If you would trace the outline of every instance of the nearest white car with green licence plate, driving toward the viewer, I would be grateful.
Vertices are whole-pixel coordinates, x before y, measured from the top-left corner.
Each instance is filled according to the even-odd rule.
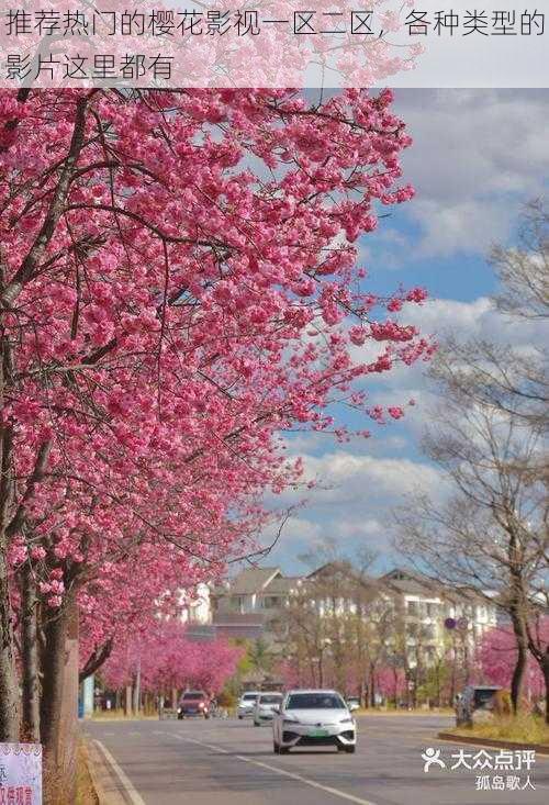
[[[272,719],[277,754],[293,747],[335,746],[355,752],[357,724],[337,691],[289,691]]]

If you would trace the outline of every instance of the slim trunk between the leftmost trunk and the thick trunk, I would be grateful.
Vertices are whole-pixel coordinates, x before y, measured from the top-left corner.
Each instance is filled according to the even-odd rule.
[[[21,662],[23,687],[23,719],[21,737],[40,741],[40,680],[36,581],[30,562],[25,562],[21,583]]]

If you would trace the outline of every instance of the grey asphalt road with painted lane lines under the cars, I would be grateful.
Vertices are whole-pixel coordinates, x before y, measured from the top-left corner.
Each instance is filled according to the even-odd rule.
[[[440,716],[361,716],[356,754],[296,749],[272,753],[270,727],[236,719],[88,722],[85,731],[112,769],[109,785],[131,805],[547,805],[549,759],[530,772],[536,790],[477,791],[480,775],[526,783],[525,771],[424,772],[422,752],[441,750],[451,765],[463,749],[437,740],[450,726]],[[490,750],[492,758],[496,750]],[[469,764],[474,762],[468,760]],[[491,783],[492,784],[492,783]]]

